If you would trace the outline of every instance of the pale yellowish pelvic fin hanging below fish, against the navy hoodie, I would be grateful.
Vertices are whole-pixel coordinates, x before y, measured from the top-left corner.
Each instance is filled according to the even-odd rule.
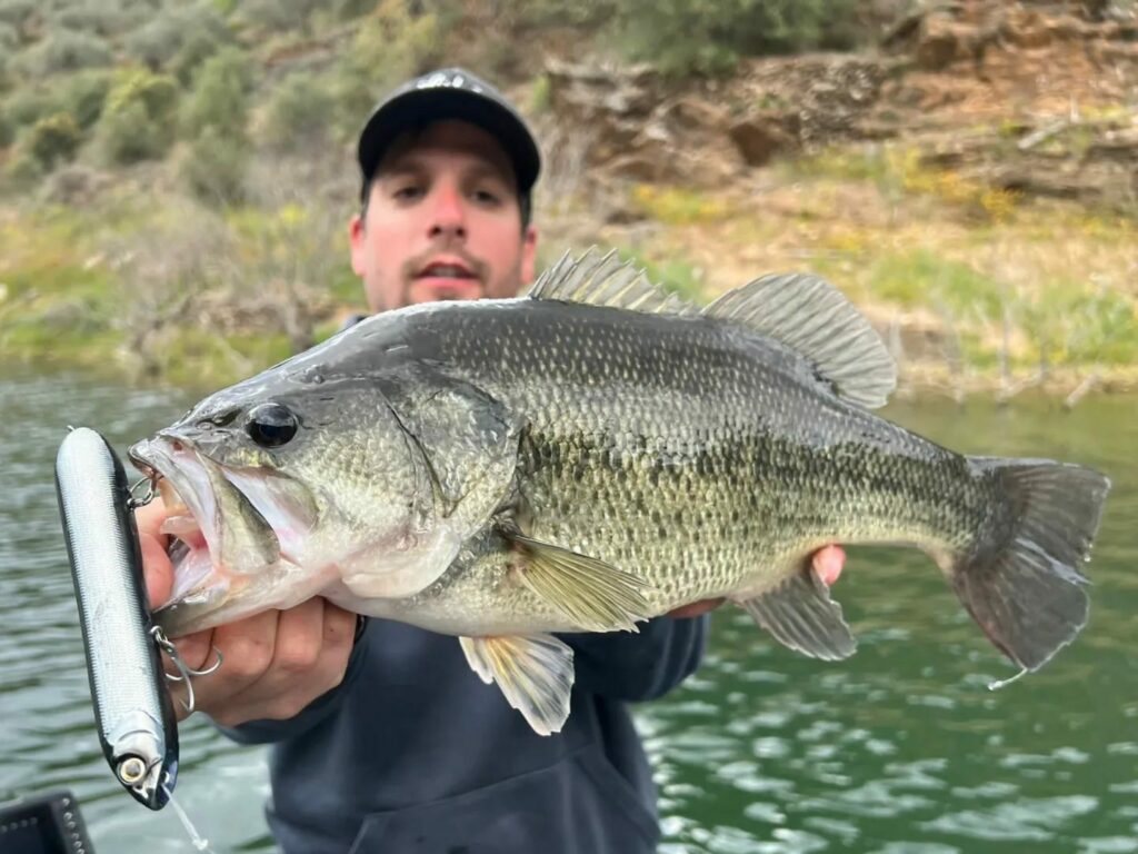
[[[560,732],[569,717],[572,649],[552,634],[459,638],[467,663],[521,712],[538,736]]]

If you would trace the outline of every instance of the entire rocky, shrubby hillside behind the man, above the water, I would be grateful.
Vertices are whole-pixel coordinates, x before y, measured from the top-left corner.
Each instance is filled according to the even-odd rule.
[[[1135,3],[776,2],[797,28],[720,44],[675,40],[691,0],[646,65],[609,38],[643,2],[0,0],[0,359],[212,385],[335,329],[361,117],[459,61],[538,130],[546,260],[611,245],[693,299],[814,270],[912,389],[1138,386]]]

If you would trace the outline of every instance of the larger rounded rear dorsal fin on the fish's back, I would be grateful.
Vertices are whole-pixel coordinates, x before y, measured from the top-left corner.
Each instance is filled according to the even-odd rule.
[[[884,405],[897,366],[865,315],[817,276],[764,276],[729,290],[703,314],[774,338],[805,358],[841,397],[867,409]]]

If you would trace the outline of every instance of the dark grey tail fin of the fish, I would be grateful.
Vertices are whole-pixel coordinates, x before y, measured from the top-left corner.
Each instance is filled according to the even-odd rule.
[[[949,577],[988,639],[1033,671],[1087,623],[1088,580],[1079,565],[1089,559],[1111,482],[1050,460],[970,462],[978,476],[995,479],[1003,506],[991,518],[1004,522],[993,523],[998,535],[955,556]]]

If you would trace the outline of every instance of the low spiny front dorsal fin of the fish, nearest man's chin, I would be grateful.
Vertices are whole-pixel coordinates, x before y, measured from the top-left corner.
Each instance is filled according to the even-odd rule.
[[[563,303],[626,309],[645,314],[698,314],[699,307],[653,285],[616,251],[593,247],[574,260],[567,252],[534,282],[526,296]]]

